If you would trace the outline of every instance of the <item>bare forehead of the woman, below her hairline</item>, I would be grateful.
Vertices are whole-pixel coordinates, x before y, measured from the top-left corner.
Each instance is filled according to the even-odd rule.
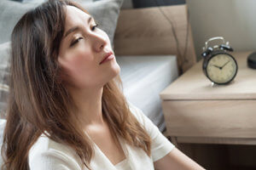
[[[80,22],[84,23],[86,20],[90,18],[90,14],[85,13],[79,8],[67,5],[67,12],[66,12],[66,28],[70,28]]]

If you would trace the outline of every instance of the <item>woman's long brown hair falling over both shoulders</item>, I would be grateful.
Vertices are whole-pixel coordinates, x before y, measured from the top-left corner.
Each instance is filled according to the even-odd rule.
[[[79,127],[78,115],[70,114],[74,102],[61,82],[57,63],[66,5],[88,13],[78,3],[49,0],[24,14],[12,32],[9,105],[1,150],[8,170],[29,169],[29,150],[42,133],[72,147],[90,168],[93,146]],[[150,156],[151,140],[129,109],[119,75],[103,87],[102,114],[113,133]]]

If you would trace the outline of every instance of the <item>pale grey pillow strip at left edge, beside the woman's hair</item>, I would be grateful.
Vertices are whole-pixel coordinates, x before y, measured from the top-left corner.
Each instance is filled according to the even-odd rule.
[[[0,118],[5,116],[9,94],[9,53],[10,42],[0,44]]]

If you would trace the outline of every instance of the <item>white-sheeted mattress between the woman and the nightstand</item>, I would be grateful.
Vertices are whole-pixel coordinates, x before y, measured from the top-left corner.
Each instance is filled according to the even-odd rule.
[[[125,98],[159,127],[166,127],[160,92],[178,77],[174,55],[117,56]]]

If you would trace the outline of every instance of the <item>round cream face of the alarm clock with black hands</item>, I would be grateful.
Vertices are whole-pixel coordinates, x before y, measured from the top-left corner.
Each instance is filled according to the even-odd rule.
[[[216,54],[208,62],[207,76],[216,83],[230,82],[235,76],[237,65],[228,54]]]

